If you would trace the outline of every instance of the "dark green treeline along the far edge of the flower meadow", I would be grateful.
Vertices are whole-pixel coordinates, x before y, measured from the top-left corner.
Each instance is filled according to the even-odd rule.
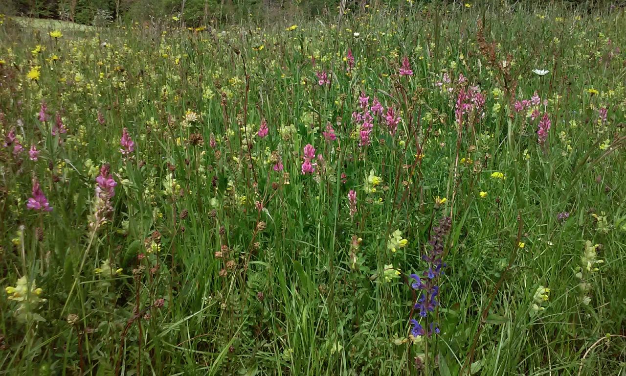
[[[558,3],[572,8],[622,7],[626,0],[1,0],[0,14],[49,18],[105,26],[114,21],[158,22],[174,18],[186,26],[220,24],[242,20],[274,23],[335,15],[339,9],[358,11],[365,6],[411,7],[422,3],[507,6],[543,6]]]

